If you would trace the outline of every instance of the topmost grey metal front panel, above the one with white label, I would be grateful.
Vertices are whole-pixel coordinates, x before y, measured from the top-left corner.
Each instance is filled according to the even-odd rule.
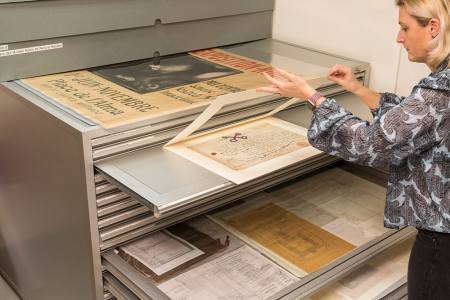
[[[13,1],[6,1],[13,2]],[[0,44],[273,10],[273,0],[0,1]]]

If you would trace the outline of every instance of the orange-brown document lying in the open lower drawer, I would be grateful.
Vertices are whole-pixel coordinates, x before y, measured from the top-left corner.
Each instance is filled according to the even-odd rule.
[[[211,217],[298,277],[355,248],[274,203],[248,209],[239,207]]]

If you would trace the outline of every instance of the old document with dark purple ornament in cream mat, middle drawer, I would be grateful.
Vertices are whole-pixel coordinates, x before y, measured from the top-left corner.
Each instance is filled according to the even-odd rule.
[[[166,149],[234,183],[243,183],[321,153],[306,129],[273,117],[172,144]]]

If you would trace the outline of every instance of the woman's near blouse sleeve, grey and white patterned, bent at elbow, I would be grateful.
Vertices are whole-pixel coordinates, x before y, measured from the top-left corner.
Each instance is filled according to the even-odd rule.
[[[444,91],[425,88],[415,89],[402,101],[384,96],[372,124],[327,99],[313,114],[308,139],[319,150],[347,161],[399,164],[431,148],[449,132],[449,98]]]

